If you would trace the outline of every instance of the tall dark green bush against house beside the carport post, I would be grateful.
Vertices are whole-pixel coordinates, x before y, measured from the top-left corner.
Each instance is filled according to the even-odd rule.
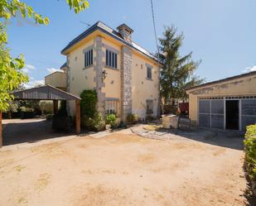
[[[97,112],[97,93],[95,90],[84,90],[80,94],[81,126],[89,131],[104,130],[105,122],[101,113]]]

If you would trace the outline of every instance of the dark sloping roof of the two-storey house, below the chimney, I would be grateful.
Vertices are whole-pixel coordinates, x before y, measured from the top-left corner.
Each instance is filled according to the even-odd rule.
[[[132,42],[132,44],[128,43],[127,41],[124,41],[122,36],[118,31],[115,31],[114,29],[110,28],[109,26],[106,26],[103,22],[97,22],[93,26],[90,26],[89,29],[84,31],[83,33],[80,34],[80,36],[75,37],[74,40],[70,41],[70,43],[65,46],[63,50],[61,50],[61,54],[65,53],[65,50],[70,49],[70,47],[74,46],[76,43],[84,39],[86,36],[89,36],[92,32],[100,30],[103,31],[104,33],[108,34],[109,36],[114,37],[116,40],[121,41],[123,44],[132,47],[134,50],[138,50],[141,52],[143,55],[147,55],[150,57],[152,60],[157,61],[157,57],[155,55],[152,55],[149,51],[143,49],[141,46],[138,46],[135,42]]]

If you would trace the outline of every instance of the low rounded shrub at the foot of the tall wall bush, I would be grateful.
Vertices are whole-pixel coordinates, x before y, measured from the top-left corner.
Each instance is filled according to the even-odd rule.
[[[102,131],[105,128],[104,117],[102,117],[101,113],[94,113],[93,118],[84,115],[81,118],[81,125],[82,127],[88,129],[89,131]]]

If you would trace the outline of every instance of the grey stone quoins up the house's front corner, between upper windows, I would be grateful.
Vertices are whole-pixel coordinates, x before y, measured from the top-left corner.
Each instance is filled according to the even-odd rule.
[[[97,110],[99,113],[105,114],[105,93],[102,92],[102,88],[105,86],[102,79],[103,67],[104,67],[104,51],[102,38],[97,36],[94,39],[94,50],[96,52],[94,71],[96,76],[94,77],[94,82],[96,83],[96,88],[94,88],[98,95]]]

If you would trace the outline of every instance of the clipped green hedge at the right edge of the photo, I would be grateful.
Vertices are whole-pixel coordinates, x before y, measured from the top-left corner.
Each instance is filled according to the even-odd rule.
[[[246,127],[244,151],[249,177],[256,180],[256,124]]]

